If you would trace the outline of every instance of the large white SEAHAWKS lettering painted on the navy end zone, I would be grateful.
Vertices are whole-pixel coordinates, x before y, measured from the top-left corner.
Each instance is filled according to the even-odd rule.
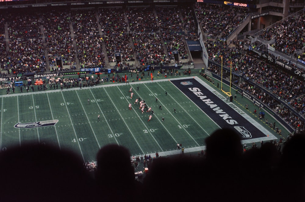
[[[216,112],[220,117],[222,117],[228,124],[238,124],[236,120],[232,119],[230,115],[228,115],[221,108],[219,108],[213,101],[211,101],[210,99],[206,99],[207,97],[201,92],[199,88],[188,88],[188,90],[192,91],[197,97],[201,99],[201,101],[206,103],[206,105],[210,106],[210,108],[213,109],[213,111]]]

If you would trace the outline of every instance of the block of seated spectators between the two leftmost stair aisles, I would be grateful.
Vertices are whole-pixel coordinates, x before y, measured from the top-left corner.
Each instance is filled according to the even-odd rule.
[[[45,47],[38,13],[11,13],[8,20],[9,73],[45,72]]]

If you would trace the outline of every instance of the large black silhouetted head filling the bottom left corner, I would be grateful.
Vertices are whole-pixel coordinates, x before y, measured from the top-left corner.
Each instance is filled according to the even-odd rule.
[[[43,145],[10,148],[0,155],[1,201],[80,201],[94,197],[94,181],[70,151]]]

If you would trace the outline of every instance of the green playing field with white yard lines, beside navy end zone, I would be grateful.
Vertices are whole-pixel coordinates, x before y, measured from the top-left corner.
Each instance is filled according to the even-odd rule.
[[[137,97],[155,112],[151,121],[151,113],[142,113],[134,104]],[[2,95],[0,103],[2,152],[24,144],[47,144],[74,151],[84,162],[96,161],[97,152],[107,144],[123,145],[132,156],[177,154],[177,143],[200,151],[205,138],[219,129],[168,79],[29,91]]]

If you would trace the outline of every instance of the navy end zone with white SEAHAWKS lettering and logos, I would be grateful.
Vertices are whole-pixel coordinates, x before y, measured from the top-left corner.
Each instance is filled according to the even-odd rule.
[[[233,103],[227,102],[220,93],[208,89],[193,78],[170,80],[179,90],[188,96],[200,109],[203,110],[221,128],[231,128],[240,134],[243,142],[257,140],[276,139],[273,135],[267,137],[266,129],[258,129],[259,124],[254,124],[242,110]],[[228,98],[229,100],[229,98]],[[234,109],[235,108],[235,109]],[[246,119],[247,118],[247,119]],[[251,121],[251,122],[249,122]],[[264,130],[265,133],[262,132]],[[250,141],[249,141],[250,140]]]

